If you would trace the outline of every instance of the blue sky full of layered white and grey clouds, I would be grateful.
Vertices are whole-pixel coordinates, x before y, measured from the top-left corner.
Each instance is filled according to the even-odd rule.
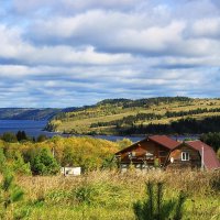
[[[219,0],[0,0],[0,108],[219,87]]]

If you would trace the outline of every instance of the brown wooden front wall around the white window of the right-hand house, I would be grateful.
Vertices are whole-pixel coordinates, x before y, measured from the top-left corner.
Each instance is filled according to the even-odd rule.
[[[182,152],[189,153],[189,161],[182,161]],[[173,163],[170,158],[173,157]],[[175,168],[200,168],[201,167],[201,157],[198,151],[191,148],[186,144],[179,145],[177,148],[173,150],[168,156],[166,163],[166,169]]]

